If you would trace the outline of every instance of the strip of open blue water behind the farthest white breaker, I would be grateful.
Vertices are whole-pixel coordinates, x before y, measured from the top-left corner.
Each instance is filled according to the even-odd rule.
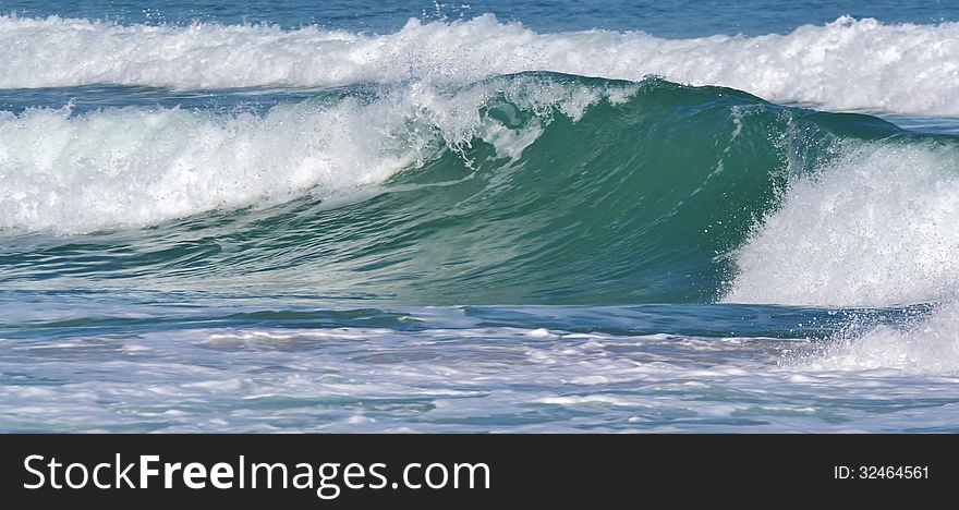
[[[267,23],[286,28],[319,25],[351,32],[380,34],[398,31],[410,17],[456,21],[493,13],[506,22],[520,22],[537,32],[643,31],[660,37],[703,37],[716,34],[763,35],[787,33],[801,25],[822,25],[842,15],[875,17],[887,23],[930,24],[957,21],[954,1],[803,1],[773,3],[744,1],[583,1],[514,2],[482,0],[428,2],[402,0],[384,5],[366,0],[308,2],[279,1],[75,1],[0,2],[4,12],[21,16],[59,15],[118,23],[191,24],[196,22]]]

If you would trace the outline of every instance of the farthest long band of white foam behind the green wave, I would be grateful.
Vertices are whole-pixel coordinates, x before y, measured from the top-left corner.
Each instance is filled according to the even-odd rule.
[[[466,83],[556,71],[660,74],[829,109],[959,114],[959,24],[841,17],[786,35],[663,39],[645,33],[538,34],[493,15],[411,20],[386,35],[315,26],[117,25],[0,17],[0,87],[138,84],[178,88],[326,86],[428,78]]]

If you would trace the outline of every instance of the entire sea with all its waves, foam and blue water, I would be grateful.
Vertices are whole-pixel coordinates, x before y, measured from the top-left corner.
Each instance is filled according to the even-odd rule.
[[[0,432],[959,432],[959,1],[0,1]]]

